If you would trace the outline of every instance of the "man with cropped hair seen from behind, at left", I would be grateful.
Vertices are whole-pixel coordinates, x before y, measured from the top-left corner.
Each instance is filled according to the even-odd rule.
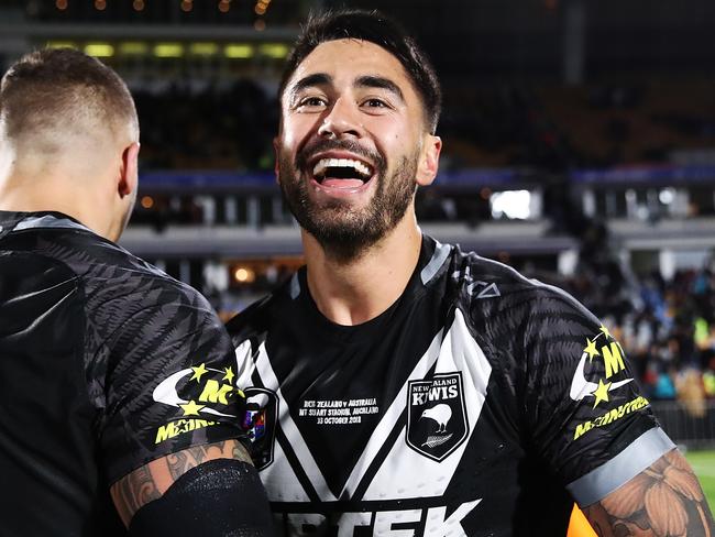
[[[2,535],[268,535],[228,335],[113,242],[138,153],[131,95],[98,61],[40,51],[2,78]]]

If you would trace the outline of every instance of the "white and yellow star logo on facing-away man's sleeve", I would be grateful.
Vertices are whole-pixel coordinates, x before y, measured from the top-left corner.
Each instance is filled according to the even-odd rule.
[[[233,385],[232,368],[207,368],[201,363],[164,379],[152,392],[156,403],[173,406],[176,416],[156,429],[154,443],[217,425],[217,418],[235,418],[230,406],[243,393]]]

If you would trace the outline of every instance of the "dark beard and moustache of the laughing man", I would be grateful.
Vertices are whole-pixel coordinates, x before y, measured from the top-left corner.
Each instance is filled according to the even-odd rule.
[[[367,207],[353,209],[340,199],[318,206],[308,195],[307,180],[292,174],[293,171],[309,174],[307,157],[331,149],[351,151],[375,164],[373,180],[377,185]],[[403,156],[395,173],[386,178],[382,155],[366,153],[356,144],[326,140],[305,147],[295,164],[280,154],[278,182],[283,197],[300,227],[316,238],[329,256],[344,263],[361,257],[403,219],[417,188],[417,155],[411,160]]]

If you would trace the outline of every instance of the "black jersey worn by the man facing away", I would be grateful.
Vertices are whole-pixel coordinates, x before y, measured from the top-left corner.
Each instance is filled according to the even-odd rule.
[[[245,436],[234,363],[193,288],[64,215],[0,211],[0,535],[124,533],[111,483]]]

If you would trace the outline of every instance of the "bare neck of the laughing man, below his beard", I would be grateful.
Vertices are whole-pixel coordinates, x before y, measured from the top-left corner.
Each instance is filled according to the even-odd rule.
[[[302,232],[308,287],[318,309],[338,325],[360,325],[377,317],[403,294],[417,265],[421,232],[408,210],[384,239],[359,259],[329,256]]]

